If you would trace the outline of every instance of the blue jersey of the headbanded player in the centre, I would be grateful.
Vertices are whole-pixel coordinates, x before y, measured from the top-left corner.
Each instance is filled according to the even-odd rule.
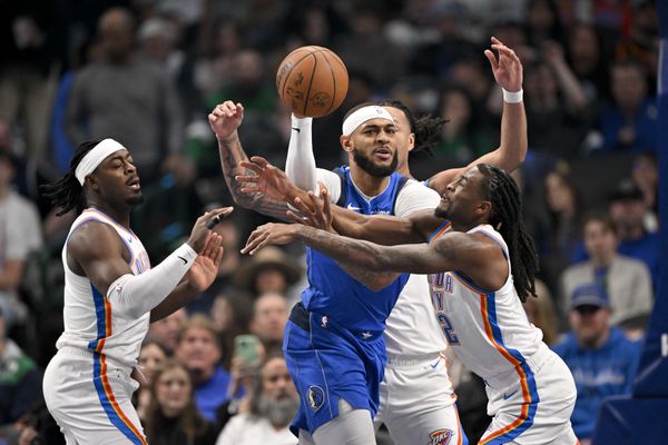
[[[364,215],[393,215],[396,196],[406,182],[405,177],[394,172],[385,190],[366,201],[353,185],[347,166],[337,169],[337,174],[342,178],[342,199],[337,205]],[[385,319],[406,284],[409,274],[402,274],[390,286],[373,291],[317,250],[308,248],[306,260],[308,287],[302,293],[302,301],[307,310],[324,314],[353,333],[363,332],[375,336],[383,332]]]

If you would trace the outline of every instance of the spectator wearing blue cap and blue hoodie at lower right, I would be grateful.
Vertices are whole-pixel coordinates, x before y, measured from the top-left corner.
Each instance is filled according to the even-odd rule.
[[[572,332],[552,349],[570,368],[578,398],[571,423],[581,444],[596,428],[603,399],[630,394],[640,358],[640,346],[610,327],[610,306],[605,290],[596,285],[576,288],[570,300]]]

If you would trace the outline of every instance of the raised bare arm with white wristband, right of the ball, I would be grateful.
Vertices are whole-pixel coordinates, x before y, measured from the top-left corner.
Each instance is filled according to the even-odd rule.
[[[499,59],[489,49],[484,51],[497,83],[503,89],[517,92],[522,89],[522,62],[513,50],[504,46],[500,40],[492,37],[492,48],[499,51]],[[478,164],[492,164],[505,171],[513,171],[524,161],[527,148],[527,115],[524,102],[503,102],[503,115],[501,117],[501,145],[494,151],[489,152],[464,168],[452,168],[441,171],[429,179],[429,187],[434,190],[444,190],[459,175]]]

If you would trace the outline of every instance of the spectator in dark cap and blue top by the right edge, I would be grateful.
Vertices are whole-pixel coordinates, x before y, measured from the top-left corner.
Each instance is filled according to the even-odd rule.
[[[656,289],[659,276],[659,234],[645,227],[647,204],[642,190],[630,179],[623,179],[610,197],[610,217],[617,226],[618,251],[644,261],[651,273]]]

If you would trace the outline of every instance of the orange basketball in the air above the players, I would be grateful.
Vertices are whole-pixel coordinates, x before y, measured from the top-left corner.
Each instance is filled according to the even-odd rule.
[[[332,50],[301,47],[283,59],[276,90],[283,102],[301,116],[317,118],[333,112],[347,93],[345,65]]]

